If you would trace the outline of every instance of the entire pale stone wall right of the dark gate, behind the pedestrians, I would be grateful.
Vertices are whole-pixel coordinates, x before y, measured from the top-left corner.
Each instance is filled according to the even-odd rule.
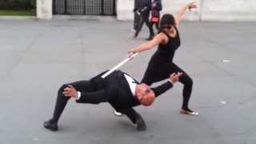
[[[117,0],[119,20],[133,19],[134,0]],[[256,21],[256,1],[251,0],[162,0],[162,14],[175,14],[186,2],[196,2],[198,10],[187,12],[191,21]]]

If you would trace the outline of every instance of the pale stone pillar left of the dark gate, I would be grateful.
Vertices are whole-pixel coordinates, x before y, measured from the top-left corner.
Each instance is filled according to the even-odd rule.
[[[37,0],[37,18],[38,19],[51,19],[52,14],[52,1],[53,0]]]

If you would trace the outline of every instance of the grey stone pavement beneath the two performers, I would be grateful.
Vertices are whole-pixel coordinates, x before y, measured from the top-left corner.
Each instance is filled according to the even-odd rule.
[[[68,103],[59,131],[42,127],[58,87],[88,79],[126,58],[148,36],[131,38],[132,22],[106,19],[0,20],[1,144],[254,144],[256,142],[255,22],[182,22],[174,62],[194,79],[190,107],[178,114],[182,85],[138,106],[148,129],[102,105]],[[122,70],[140,80],[154,50]]]

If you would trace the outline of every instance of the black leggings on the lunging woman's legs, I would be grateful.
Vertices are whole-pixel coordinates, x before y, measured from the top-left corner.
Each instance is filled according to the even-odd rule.
[[[158,71],[162,71],[162,70],[158,70]],[[186,74],[186,72],[184,70],[182,70],[180,67],[178,67],[173,62],[167,66],[167,70],[165,70],[164,74],[157,74],[156,72],[154,72],[154,70],[151,70],[151,71],[147,70],[146,74],[142,78],[141,83],[146,83],[147,85],[150,86],[154,82],[159,82],[166,78],[169,78],[170,74],[172,74],[174,72],[175,73],[177,73],[177,72],[183,73],[179,78],[179,82],[181,82],[184,85],[182,109],[189,110],[188,103],[189,103],[190,95],[192,92],[193,80],[190,78],[190,76],[188,74]]]

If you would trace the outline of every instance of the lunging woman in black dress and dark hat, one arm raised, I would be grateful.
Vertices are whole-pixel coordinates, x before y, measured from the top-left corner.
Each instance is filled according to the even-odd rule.
[[[182,6],[175,17],[171,14],[164,14],[160,22],[161,30],[159,34],[157,34],[152,41],[145,42],[141,46],[131,49],[128,57],[130,57],[131,54],[144,50],[150,50],[154,46],[158,46],[158,50],[150,59],[146,73],[144,74],[144,78],[142,78],[142,82],[150,86],[154,82],[159,82],[168,78],[168,74],[181,71],[183,74],[179,78],[179,82],[182,82],[184,88],[182,109],[180,113],[198,115],[197,112],[190,110],[188,106],[193,81],[184,70],[173,62],[175,51],[178,49],[178,46],[180,46],[177,26],[186,10],[193,8],[197,8],[197,6],[194,4],[194,2],[191,2],[186,6]]]

